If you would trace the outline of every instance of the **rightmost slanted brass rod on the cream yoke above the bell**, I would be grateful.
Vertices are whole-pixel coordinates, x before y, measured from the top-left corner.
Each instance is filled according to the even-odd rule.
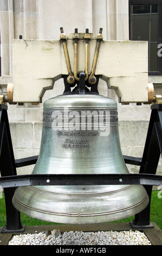
[[[95,54],[94,54],[92,73],[90,74],[90,76],[88,78],[89,84],[95,84],[96,83],[96,77],[94,76],[94,74],[95,74],[96,64],[97,64],[98,55],[99,55],[100,43],[101,43],[102,39],[103,39],[102,28],[100,28],[99,34],[97,35],[97,38],[96,38],[97,44],[96,44],[96,49],[95,49]]]

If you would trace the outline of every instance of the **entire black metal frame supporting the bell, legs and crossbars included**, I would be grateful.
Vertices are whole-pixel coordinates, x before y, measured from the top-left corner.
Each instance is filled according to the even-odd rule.
[[[139,174],[17,175],[16,168],[36,163],[38,156],[15,160],[7,106],[0,105],[0,186],[4,188],[7,212],[7,224],[3,227],[1,233],[21,233],[24,231],[25,225],[21,224],[20,212],[12,205],[12,197],[18,186],[141,184],[146,188],[151,200],[152,186],[162,186],[162,176],[155,175],[160,154],[162,155],[162,104],[152,105],[151,109],[151,118],[142,157],[124,155],[126,163],[140,166]],[[131,225],[133,228],[152,227],[150,225],[150,203],[143,211],[135,215]]]

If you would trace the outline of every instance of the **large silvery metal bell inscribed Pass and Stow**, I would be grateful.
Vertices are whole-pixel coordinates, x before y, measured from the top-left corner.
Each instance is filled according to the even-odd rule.
[[[44,102],[40,154],[32,174],[126,174],[116,102],[64,93]],[[12,199],[33,218],[57,223],[121,220],[146,208],[142,185],[24,186]]]

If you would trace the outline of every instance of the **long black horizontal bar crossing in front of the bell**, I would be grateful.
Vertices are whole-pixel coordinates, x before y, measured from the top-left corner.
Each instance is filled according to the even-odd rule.
[[[162,176],[154,174],[30,174],[4,176],[0,187],[44,185],[151,185],[162,186]]]

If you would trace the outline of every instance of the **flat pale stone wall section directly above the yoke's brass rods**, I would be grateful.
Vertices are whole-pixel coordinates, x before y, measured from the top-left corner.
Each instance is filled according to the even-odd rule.
[[[92,32],[92,1],[55,1],[54,4],[53,0],[40,0],[38,4],[40,39],[60,39],[61,26],[66,34],[74,33],[75,28],[89,28],[89,32]],[[70,21],[72,16],[75,27],[74,22]]]

